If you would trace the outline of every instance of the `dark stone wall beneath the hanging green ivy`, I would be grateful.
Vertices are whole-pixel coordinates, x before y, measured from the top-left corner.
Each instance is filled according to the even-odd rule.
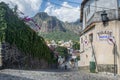
[[[47,69],[50,67],[44,59],[33,58],[8,43],[2,44],[1,54],[3,68]]]

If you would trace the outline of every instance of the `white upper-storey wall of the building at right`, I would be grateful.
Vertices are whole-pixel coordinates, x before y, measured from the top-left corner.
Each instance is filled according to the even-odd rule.
[[[87,15],[86,13],[87,13],[88,5],[90,5],[90,13]],[[85,4],[83,9],[83,29],[85,29],[86,26],[85,20],[86,22],[89,21],[95,12],[116,9],[116,15],[117,15],[117,9],[118,9],[117,6],[118,6],[117,0],[89,0]],[[86,19],[85,19],[85,15],[86,15]]]

